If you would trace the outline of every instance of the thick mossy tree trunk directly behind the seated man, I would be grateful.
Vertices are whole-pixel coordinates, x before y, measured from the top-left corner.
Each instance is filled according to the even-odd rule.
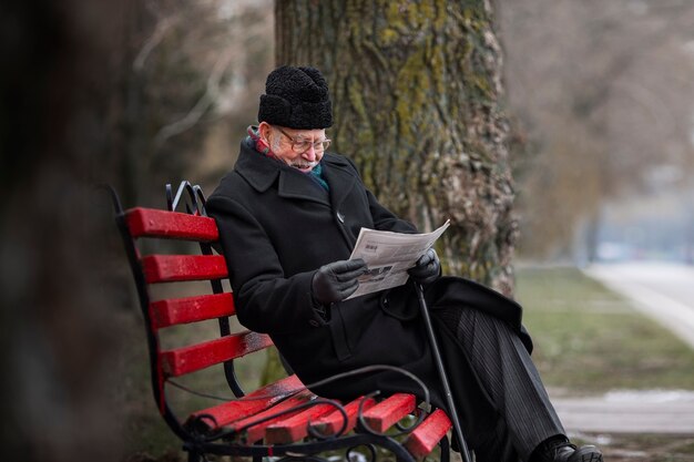
[[[448,274],[510,295],[518,226],[490,2],[275,4],[277,64],[328,80],[335,151],[420,229],[450,218],[438,248]]]

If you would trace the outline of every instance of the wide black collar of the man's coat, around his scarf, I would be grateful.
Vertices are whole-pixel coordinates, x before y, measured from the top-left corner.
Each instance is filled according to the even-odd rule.
[[[280,197],[314,201],[333,207],[341,204],[356,183],[357,173],[344,157],[326,153],[323,174],[330,187],[329,202],[325,191],[306,174],[258,154],[253,144],[243,141],[235,171],[258,193],[269,189],[277,182]]]

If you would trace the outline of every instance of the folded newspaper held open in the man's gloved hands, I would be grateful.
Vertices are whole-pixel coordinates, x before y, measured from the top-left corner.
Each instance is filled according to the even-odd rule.
[[[347,299],[407,283],[407,270],[436,243],[450,225],[423,234],[402,234],[361,228],[350,259],[363,258],[369,271],[359,277],[359,288]]]

